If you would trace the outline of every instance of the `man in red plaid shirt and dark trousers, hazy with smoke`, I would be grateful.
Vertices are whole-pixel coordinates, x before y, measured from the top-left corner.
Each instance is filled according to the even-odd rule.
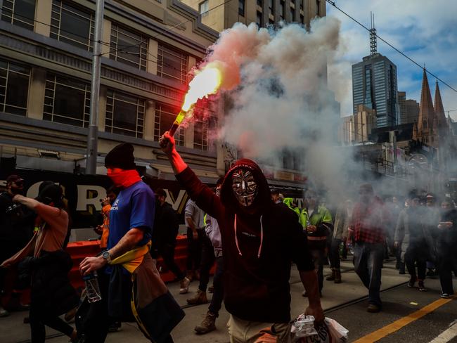
[[[360,200],[352,212],[354,269],[368,289],[368,312],[379,312],[382,259],[384,258],[385,208],[371,184],[359,188]]]

